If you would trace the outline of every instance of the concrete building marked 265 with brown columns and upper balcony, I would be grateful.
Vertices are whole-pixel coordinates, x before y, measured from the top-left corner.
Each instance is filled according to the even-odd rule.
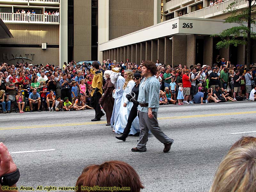
[[[212,65],[216,63],[217,55],[220,55],[231,63],[244,64],[245,45],[216,49],[220,38],[211,36],[237,26],[223,23],[223,19],[230,15],[225,10],[234,1],[227,0],[209,6],[210,1],[207,0],[164,0],[164,22],[100,43],[102,58],[118,61],[129,58],[130,61],[137,63],[141,60],[159,59],[166,65],[190,66],[197,63]],[[236,8],[239,11],[247,6],[248,1],[243,0],[239,1]],[[256,62],[253,49],[255,45],[256,42],[252,41],[252,62]],[[131,52],[130,47],[133,48],[130,49]],[[113,57],[113,52],[117,52],[117,56]]]

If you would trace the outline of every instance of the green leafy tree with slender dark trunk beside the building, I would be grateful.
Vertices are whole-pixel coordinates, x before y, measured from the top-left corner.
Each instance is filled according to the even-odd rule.
[[[225,23],[238,23],[236,27],[228,28],[223,30],[220,34],[212,36],[220,36],[221,41],[216,44],[218,49],[225,47],[228,48],[230,45],[237,46],[239,44],[246,44],[247,46],[247,65],[250,64],[251,55],[251,38],[255,39],[256,34],[253,32],[252,26],[255,25],[256,15],[252,14],[256,11],[256,0],[248,0],[248,7],[238,10],[237,7],[243,0],[235,0],[229,4],[226,13],[231,13]]]

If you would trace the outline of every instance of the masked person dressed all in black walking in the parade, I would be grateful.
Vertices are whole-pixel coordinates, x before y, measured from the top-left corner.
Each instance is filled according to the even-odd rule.
[[[139,96],[140,78],[141,78],[140,73],[135,73],[133,75],[133,80],[135,82],[135,85],[132,88],[132,92],[130,92],[129,94],[126,95],[126,98],[130,102],[133,103],[133,106],[132,106],[132,109],[130,111],[126,127],[124,128],[123,135],[121,137],[116,137],[116,139],[118,139],[118,140],[125,141],[126,138],[128,137],[129,133],[131,133],[133,135],[133,134],[135,134],[137,132],[135,130],[135,133],[134,133],[134,129],[131,130],[131,127],[132,127],[132,122],[138,116],[138,109],[137,108],[138,108],[139,103],[138,103],[137,100],[138,100],[138,96]]]

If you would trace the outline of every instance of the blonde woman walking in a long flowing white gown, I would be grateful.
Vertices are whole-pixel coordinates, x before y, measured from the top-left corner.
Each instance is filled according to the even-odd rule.
[[[133,103],[129,102],[128,99],[125,97],[129,92],[132,91],[132,88],[135,85],[135,82],[133,81],[133,73],[132,71],[125,71],[124,72],[124,93],[122,96],[121,106],[120,106],[120,114],[115,122],[114,130],[117,134],[121,134],[124,132],[124,128],[127,124],[128,117],[130,114],[130,111],[132,109]],[[137,132],[140,132],[139,127],[139,118],[136,117],[134,121],[132,122],[132,127],[129,135],[135,135]]]

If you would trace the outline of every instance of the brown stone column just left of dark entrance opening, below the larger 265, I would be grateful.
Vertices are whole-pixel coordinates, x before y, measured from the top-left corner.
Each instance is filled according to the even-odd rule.
[[[187,66],[195,65],[195,63],[196,63],[196,36],[193,34],[193,35],[187,36]]]

